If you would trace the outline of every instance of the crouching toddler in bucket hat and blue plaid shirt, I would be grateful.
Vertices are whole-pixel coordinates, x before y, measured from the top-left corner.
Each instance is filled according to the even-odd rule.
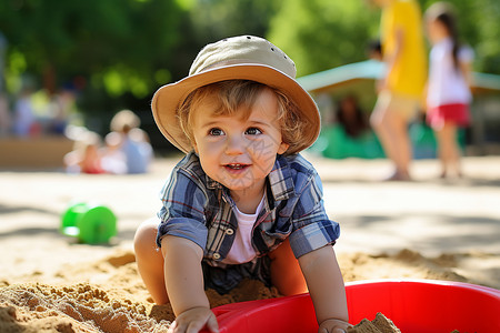
[[[227,293],[243,279],[283,295],[309,290],[319,332],[350,326],[332,246],[339,225],[299,154],[319,134],[319,111],[294,75],[267,40],[234,37],[203,48],[188,78],[153,97],[157,125],[187,153],[158,219],[134,238],[146,286],[176,313],[169,332],[218,332],[203,289]]]

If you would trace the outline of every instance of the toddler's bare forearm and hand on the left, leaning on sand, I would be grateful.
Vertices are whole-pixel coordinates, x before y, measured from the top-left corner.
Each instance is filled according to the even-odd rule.
[[[176,321],[169,333],[199,332],[204,325],[219,332],[217,319],[203,289],[203,250],[194,242],[167,235],[161,240],[164,282]]]

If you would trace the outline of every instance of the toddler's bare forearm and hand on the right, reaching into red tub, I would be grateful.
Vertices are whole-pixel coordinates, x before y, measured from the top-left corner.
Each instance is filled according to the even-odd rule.
[[[319,333],[344,332],[349,327],[346,289],[333,246],[327,245],[299,258],[314,304]]]

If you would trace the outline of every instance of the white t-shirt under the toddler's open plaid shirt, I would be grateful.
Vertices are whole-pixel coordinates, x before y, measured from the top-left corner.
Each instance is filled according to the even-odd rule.
[[[253,260],[257,255],[256,250],[252,245],[252,231],[253,224],[256,224],[257,216],[263,208],[264,196],[259,203],[256,212],[253,214],[246,214],[238,210],[234,205],[234,215],[238,221],[238,230],[234,236],[234,242],[232,243],[231,250],[229,250],[228,255],[222,261],[226,264],[241,264]]]

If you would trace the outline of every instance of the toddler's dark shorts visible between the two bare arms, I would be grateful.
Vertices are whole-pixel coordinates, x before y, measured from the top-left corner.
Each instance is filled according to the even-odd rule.
[[[238,286],[242,280],[258,280],[266,286],[271,286],[271,259],[268,255],[254,260],[224,268],[211,266],[204,261],[203,269],[204,289],[213,289],[219,294],[227,294]]]

